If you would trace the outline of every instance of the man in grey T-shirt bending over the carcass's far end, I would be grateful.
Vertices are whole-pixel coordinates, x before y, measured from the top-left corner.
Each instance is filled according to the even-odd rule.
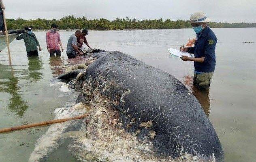
[[[77,54],[83,55],[82,52],[79,51],[77,46],[77,39],[82,35],[81,30],[77,30],[75,34],[70,35],[67,44],[67,56],[68,58],[75,58]]]

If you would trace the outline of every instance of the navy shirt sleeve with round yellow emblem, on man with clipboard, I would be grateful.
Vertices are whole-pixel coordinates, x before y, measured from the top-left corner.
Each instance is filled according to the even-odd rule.
[[[215,60],[215,46],[217,39],[215,37],[209,37],[205,45],[205,59],[203,64],[211,64]]]

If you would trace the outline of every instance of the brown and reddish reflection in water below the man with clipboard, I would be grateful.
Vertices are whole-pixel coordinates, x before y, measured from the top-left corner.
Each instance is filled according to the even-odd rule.
[[[206,90],[199,90],[196,88],[196,86],[193,85],[193,77],[191,76],[185,76],[184,84],[188,85],[190,87],[190,90],[192,91],[192,94],[196,97],[196,99],[201,104],[203,110],[205,111],[205,114],[209,116],[210,114],[210,99],[209,99],[209,91],[210,88]]]

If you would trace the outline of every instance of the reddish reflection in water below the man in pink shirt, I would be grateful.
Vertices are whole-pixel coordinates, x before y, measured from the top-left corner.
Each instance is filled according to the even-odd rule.
[[[53,75],[57,76],[62,74],[63,65],[64,65],[64,58],[61,56],[53,56],[49,58],[49,64]]]

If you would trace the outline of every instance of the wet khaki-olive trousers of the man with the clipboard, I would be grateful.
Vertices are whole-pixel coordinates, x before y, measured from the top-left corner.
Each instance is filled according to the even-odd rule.
[[[195,85],[198,89],[207,89],[210,87],[212,76],[213,72],[194,74],[193,85]]]

